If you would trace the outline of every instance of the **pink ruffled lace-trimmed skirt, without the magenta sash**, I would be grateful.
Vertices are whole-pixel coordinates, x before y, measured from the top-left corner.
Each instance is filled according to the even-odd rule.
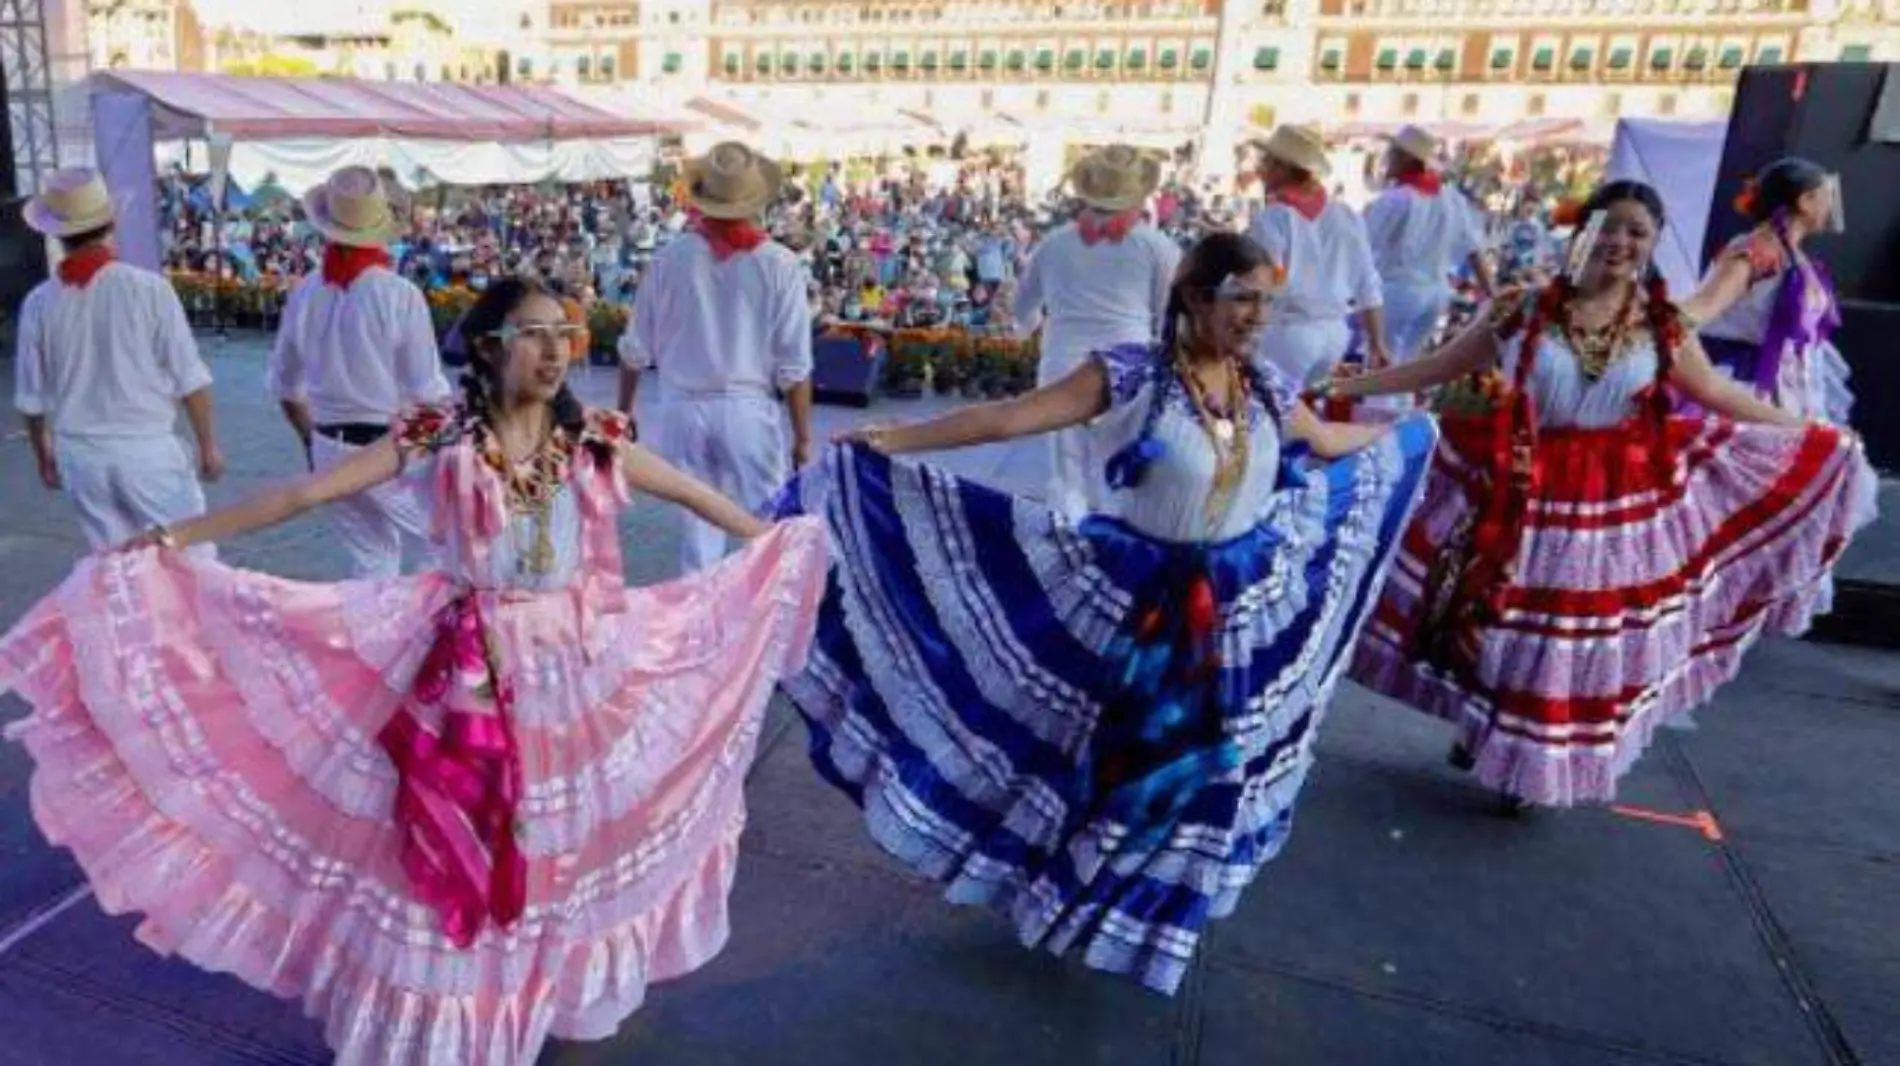
[[[294,998],[344,1064],[532,1062],[711,960],[773,686],[802,667],[825,530],[625,593],[477,597],[513,690],[524,899],[456,946],[405,874],[378,745],[466,589],[310,585],[93,557],[0,638],[34,713],[32,811],[139,939]]]

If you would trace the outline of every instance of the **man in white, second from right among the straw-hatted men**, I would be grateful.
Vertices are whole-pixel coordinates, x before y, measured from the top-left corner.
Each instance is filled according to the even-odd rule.
[[[1311,386],[1345,359],[1353,342],[1345,319],[1358,315],[1366,359],[1383,367],[1379,272],[1364,222],[1320,184],[1332,173],[1326,143],[1311,129],[1282,125],[1260,152],[1267,205],[1254,215],[1248,236],[1286,270],[1286,287],[1260,331],[1262,359],[1294,386]]]

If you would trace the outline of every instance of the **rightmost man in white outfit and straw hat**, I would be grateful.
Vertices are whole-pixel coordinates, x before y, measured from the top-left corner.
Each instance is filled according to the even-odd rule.
[[[1391,186],[1366,207],[1372,264],[1385,289],[1385,350],[1398,363],[1431,344],[1452,304],[1452,272],[1459,264],[1469,262],[1484,298],[1492,296],[1482,219],[1463,192],[1444,186],[1433,169],[1436,158],[1431,133],[1400,129],[1385,152]]]

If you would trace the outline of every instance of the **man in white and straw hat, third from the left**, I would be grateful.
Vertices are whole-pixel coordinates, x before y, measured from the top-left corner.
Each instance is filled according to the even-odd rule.
[[[745,144],[726,143],[688,162],[684,179],[697,217],[640,281],[633,325],[619,340],[619,409],[633,412],[640,371],[652,371],[659,454],[745,507],[762,507],[788,466],[811,458],[806,272],[758,226],[785,175]],[[728,549],[722,530],[686,517],[684,572]]]

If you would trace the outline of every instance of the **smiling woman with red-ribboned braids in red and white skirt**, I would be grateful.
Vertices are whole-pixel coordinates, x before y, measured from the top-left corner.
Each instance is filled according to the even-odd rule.
[[[1710,367],[1649,270],[1662,203],[1613,182],[1575,281],[1501,296],[1444,352],[1330,386],[1410,393],[1501,367],[1444,416],[1425,502],[1353,678],[1459,730],[1454,762],[1512,800],[1607,802],[1657,726],[1799,633],[1872,519],[1873,471]],[[1716,414],[1672,416],[1674,386]]]

